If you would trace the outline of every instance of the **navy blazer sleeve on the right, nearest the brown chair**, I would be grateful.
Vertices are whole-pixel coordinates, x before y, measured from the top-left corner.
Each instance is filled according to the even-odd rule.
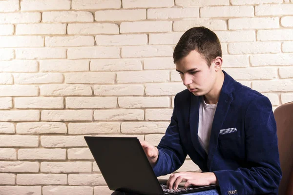
[[[272,104],[264,96],[252,100],[245,113],[246,168],[214,171],[222,195],[278,194],[282,177]]]

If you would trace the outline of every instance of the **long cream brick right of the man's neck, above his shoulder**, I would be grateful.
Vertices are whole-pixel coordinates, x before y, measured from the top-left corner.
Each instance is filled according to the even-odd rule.
[[[225,71],[236,80],[268,80],[276,78],[277,69],[262,68],[226,68]]]

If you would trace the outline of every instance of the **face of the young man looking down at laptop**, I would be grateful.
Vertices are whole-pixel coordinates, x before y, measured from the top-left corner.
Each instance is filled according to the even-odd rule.
[[[196,50],[175,64],[183,84],[195,96],[204,96],[212,90],[216,80],[214,63],[209,66]]]

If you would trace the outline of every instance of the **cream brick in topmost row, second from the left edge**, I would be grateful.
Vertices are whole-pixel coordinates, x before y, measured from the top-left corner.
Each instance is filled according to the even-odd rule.
[[[21,0],[21,11],[69,10],[70,0]]]

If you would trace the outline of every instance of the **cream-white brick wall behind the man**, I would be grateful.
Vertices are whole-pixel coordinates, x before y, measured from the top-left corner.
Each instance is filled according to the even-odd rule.
[[[292,0],[0,0],[0,194],[111,194],[84,136],[157,145],[186,89],[173,49],[194,26],[217,34],[233,78],[274,109],[293,101],[292,10]]]

